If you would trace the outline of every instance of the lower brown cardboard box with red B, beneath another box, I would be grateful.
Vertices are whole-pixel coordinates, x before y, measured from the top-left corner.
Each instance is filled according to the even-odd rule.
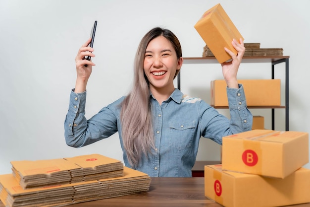
[[[277,207],[310,202],[310,170],[300,168],[285,179],[222,171],[205,166],[205,196],[225,207]]]

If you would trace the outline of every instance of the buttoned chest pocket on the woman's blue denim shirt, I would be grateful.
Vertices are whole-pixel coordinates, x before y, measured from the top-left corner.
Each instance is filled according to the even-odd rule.
[[[178,149],[192,146],[195,134],[195,121],[170,122],[169,123],[169,145]]]

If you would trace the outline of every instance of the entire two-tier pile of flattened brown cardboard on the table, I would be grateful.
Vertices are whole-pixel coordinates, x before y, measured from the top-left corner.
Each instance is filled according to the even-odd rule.
[[[4,206],[60,207],[140,193],[150,187],[151,178],[147,174],[99,154],[60,160],[45,160],[47,164],[11,162],[13,173],[0,175],[0,200]]]

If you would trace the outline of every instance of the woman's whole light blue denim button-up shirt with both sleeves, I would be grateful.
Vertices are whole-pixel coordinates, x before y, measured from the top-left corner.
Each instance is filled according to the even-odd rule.
[[[201,137],[221,144],[223,136],[251,130],[253,117],[246,105],[243,86],[239,86],[239,89],[227,88],[230,120],[205,101],[183,95],[178,89],[161,105],[150,95],[155,149],[153,154],[143,157],[135,169],[151,177],[191,177]],[[118,132],[124,163],[131,167],[121,137],[119,104],[123,99],[116,100],[86,120],[86,91],[76,94],[72,90],[64,123],[66,143],[81,147]]]

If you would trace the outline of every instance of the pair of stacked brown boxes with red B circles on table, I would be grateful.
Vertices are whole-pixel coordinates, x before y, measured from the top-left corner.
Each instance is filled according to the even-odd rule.
[[[253,130],[223,137],[222,164],[205,166],[205,195],[225,207],[310,202],[309,134]]]

